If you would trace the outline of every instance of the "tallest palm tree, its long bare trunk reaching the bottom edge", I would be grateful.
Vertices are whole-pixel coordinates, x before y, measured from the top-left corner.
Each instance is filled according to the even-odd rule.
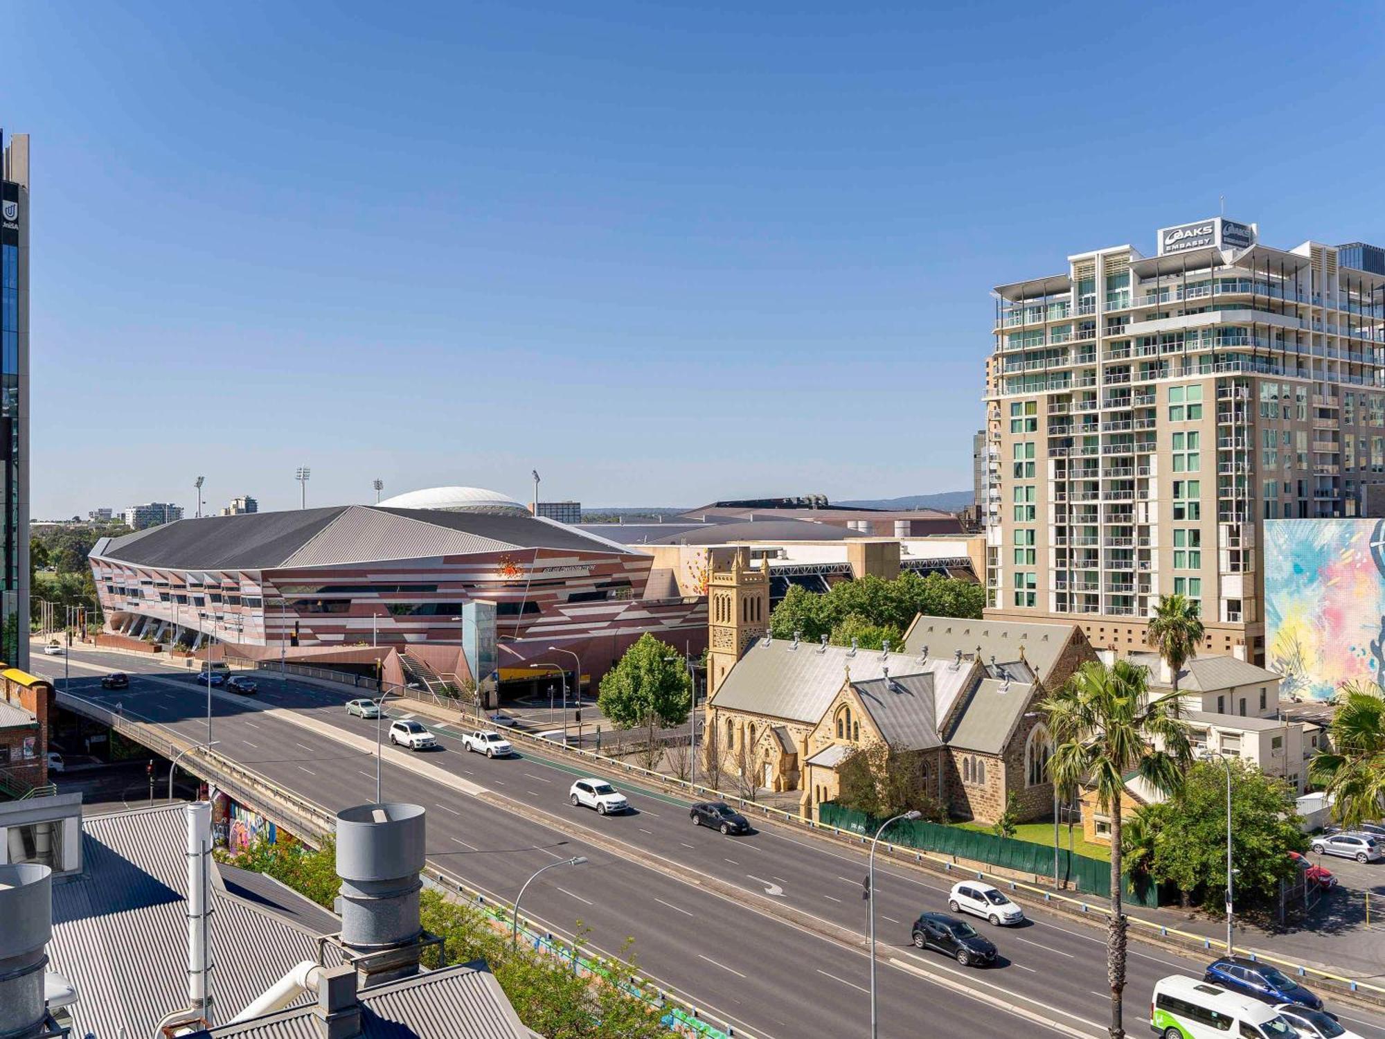
[[[1148,671],[1119,659],[1107,668],[1083,664],[1040,705],[1054,738],[1050,769],[1062,788],[1096,787],[1097,803],[1111,819],[1111,921],[1107,925],[1107,982],[1111,986],[1111,1039],[1122,1039],[1126,977],[1126,917],[1120,907],[1120,806],[1127,777],[1138,776],[1162,794],[1183,781],[1191,758],[1187,723],[1177,693],[1150,697]],[[1155,749],[1158,745],[1161,749]]]

